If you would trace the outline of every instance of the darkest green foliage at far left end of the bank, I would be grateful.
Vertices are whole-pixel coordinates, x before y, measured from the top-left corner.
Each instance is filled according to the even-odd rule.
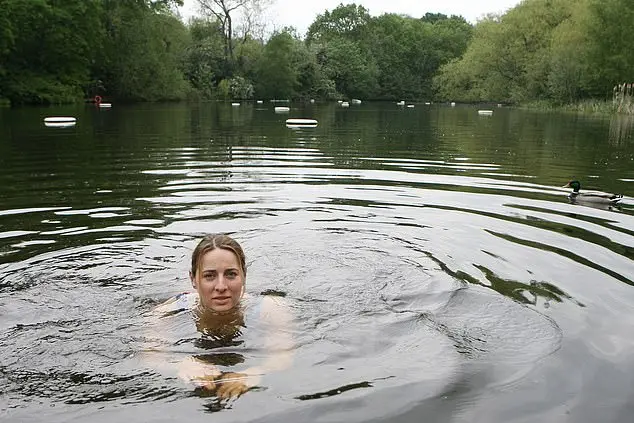
[[[102,41],[98,0],[2,0],[0,92],[14,103],[81,98]]]

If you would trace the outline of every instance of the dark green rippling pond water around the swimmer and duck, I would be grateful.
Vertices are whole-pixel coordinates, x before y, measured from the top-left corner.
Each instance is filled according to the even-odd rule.
[[[631,421],[631,118],[290,106],[0,109],[3,420]],[[296,318],[292,367],[220,408],[141,358],[209,232]]]

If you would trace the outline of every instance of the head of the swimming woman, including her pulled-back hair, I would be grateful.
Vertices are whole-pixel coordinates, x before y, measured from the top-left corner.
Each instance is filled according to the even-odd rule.
[[[207,235],[194,249],[189,277],[203,307],[229,311],[244,292],[247,268],[240,244],[227,235]]]

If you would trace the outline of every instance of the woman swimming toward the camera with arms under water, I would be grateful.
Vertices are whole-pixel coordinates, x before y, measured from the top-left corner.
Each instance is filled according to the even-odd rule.
[[[178,365],[181,379],[219,398],[240,396],[256,387],[262,376],[288,368],[292,362],[288,308],[279,297],[248,298],[246,274],[244,251],[237,241],[222,234],[205,236],[194,249],[189,272],[196,292],[179,294],[156,309],[162,317],[191,310],[202,335],[195,345],[205,350],[241,345],[246,320],[257,319],[264,334],[265,357],[260,365],[222,372],[219,366],[233,367],[245,361],[240,354],[226,352],[194,355]]]

